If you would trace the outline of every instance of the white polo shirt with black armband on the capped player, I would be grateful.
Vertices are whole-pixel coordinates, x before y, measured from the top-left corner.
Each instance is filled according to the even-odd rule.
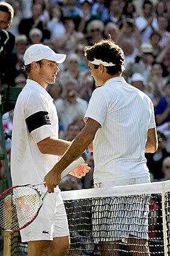
[[[58,138],[58,115],[53,99],[40,84],[28,79],[14,108],[11,145],[13,186],[43,182],[58,157],[42,154],[37,143],[50,136]],[[41,191],[46,190],[43,188]]]

